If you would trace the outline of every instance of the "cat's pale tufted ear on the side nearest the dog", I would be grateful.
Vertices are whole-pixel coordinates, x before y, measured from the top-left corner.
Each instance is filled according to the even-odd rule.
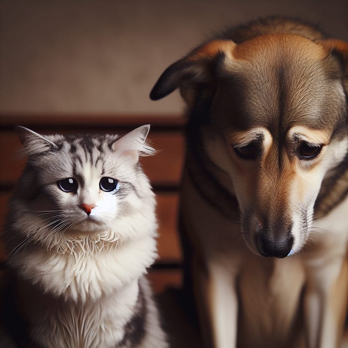
[[[139,157],[155,155],[156,150],[146,143],[150,125],[140,126],[118,139],[112,149],[118,156],[126,157],[137,163]]]

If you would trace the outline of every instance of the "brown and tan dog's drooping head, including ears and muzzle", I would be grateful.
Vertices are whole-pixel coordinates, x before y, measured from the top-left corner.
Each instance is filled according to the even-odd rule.
[[[294,34],[214,40],[171,65],[210,160],[228,173],[249,248],[285,257],[308,237],[323,179],[347,153],[348,44]]]

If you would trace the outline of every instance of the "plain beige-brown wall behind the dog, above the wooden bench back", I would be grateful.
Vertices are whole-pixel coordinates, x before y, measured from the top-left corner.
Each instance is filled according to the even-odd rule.
[[[178,113],[149,100],[162,71],[212,32],[299,16],[348,41],[347,0],[0,0],[0,113]]]

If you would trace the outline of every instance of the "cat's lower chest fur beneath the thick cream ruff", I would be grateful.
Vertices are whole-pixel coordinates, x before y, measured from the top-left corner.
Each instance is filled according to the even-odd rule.
[[[19,306],[31,322],[31,337],[40,347],[118,348],[127,340],[144,339],[142,327],[129,331],[131,323],[145,323],[147,316],[142,282],[134,280],[97,301],[61,301],[27,281],[17,286]],[[146,294],[148,295],[148,294]],[[134,337],[133,337],[134,336]]]

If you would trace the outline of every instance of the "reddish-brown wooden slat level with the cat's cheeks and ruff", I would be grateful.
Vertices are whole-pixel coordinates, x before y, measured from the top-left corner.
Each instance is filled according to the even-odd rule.
[[[0,225],[3,225],[7,214],[9,192],[0,192]],[[178,194],[161,193],[157,195],[157,215],[159,220],[159,238],[157,241],[159,260],[161,262],[181,261],[181,249],[176,233],[176,211]],[[0,243],[0,261],[4,259],[3,245]]]

